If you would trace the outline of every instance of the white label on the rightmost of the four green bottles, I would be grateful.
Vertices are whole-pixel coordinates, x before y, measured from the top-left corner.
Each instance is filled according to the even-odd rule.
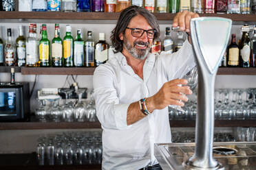
[[[84,60],[84,42],[82,41],[75,41],[74,42],[74,65],[81,66],[83,65]]]

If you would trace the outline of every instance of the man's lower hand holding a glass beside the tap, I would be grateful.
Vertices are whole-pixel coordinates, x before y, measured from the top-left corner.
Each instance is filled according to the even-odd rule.
[[[168,105],[184,106],[182,101],[188,101],[186,95],[191,95],[192,90],[189,89],[189,86],[178,85],[186,85],[187,83],[188,81],[184,79],[176,79],[164,83],[156,95],[147,98],[149,112],[153,112],[155,109],[160,110]]]

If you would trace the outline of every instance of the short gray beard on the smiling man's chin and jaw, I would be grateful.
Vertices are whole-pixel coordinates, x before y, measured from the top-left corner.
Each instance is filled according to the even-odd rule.
[[[136,49],[135,47],[129,44],[125,36],[123,46],[131,54],[131,56],[138,60],[144,60],[147,57],[147,54],[149,53],[149,47],[147,47],[147,49]]]

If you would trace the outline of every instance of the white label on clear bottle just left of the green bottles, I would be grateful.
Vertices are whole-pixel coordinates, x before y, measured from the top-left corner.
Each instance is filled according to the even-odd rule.
[[[38,49],[36,42],[26,42],[27,51],[26,51],[26,63],[27,64],[36,64],[38,62]]]

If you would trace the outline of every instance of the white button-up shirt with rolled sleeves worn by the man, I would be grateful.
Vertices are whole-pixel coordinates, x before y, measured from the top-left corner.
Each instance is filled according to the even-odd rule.
[[[154,143],[171,143],[168,107],[127,125],[127,108],[156,94],[165,82],[182,77],[195,66],[192,47],[186,40],[173,54],[149,53],[143,80],[134,73],[122,53],[109,57],[94,71],[96,113],[103,128],[103,169],[141,169],[157,162]]]

